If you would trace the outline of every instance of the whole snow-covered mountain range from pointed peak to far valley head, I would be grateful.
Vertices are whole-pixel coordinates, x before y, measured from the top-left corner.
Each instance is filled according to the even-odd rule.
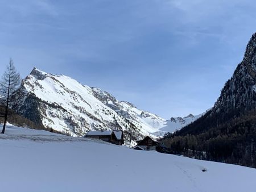
[[[118,101],[97,87],[36,68],[24,78],[20,92],[24,96],[22,104],[16,108],[20,114],[48,131],[71,136],[82,136],[89,130],[131,129],[136,130],[136,139],[146,135],[155,137],[197,118],[189,115],[165,120],[129,102]]]

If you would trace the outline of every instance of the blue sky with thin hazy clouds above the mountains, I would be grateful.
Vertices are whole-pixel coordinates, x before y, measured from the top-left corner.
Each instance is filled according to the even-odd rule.
[[[253,0],[0,0],[0,65],[65,74],[167,119],[199,114],[242,60],[255,10]]]

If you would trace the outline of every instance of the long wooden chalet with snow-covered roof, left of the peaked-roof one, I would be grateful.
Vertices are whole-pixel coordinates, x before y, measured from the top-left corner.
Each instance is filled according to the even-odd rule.
[[[122,145],[123,131],[89,131],[84,137],[100,139],[116,145]]]

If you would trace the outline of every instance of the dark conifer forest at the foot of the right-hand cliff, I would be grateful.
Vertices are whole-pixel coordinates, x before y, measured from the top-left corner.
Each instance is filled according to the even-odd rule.
[[[196,126],[201,123],[167,135],[164,143],[177,154],[256,168],[256,110],[214,126],[211,121],[204,123],[199,132]]]

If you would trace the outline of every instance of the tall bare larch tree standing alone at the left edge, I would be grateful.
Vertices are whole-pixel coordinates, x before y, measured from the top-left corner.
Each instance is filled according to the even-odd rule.
[[[2,117],[5,118],[3,122],[3,129],[1,133],[5,133],[5,127],[7,122],[7,116],[9,107],[15,102],[15,93],[20,85],[20,75],[16,72],[13,60],[10,59],[9,64],[6,66],[5,73],[2,76],[0,82],[0,105],[5,108]]]

